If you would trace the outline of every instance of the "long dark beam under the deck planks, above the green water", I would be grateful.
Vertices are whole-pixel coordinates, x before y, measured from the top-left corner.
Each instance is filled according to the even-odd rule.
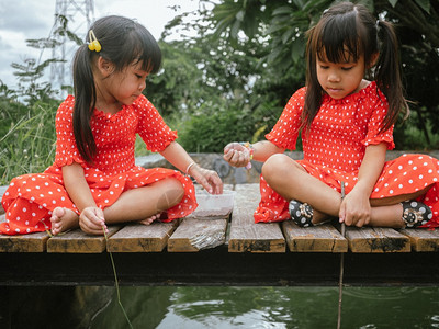
[[[113,253],[120,285],[331,285],[338,253]],[[114,285],[108,253],[0,253],[0,286]],[[346,285],[438,286],[439,253],[345,254]]]

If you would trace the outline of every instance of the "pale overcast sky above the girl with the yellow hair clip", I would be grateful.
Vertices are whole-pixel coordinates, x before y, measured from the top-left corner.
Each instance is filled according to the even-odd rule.
[[[0,80],[8,87],[16,86],[12,63],[40,57],[41,52],[27,47],[25,41],[49,36],[55,4],[56,0],[0,0]],[[180,7],[178,11],[170,8],[175,5]],[[167,22],[198,7],[199,0],[94,0],[94,18],[119,14],[136,19],[158,39]]]

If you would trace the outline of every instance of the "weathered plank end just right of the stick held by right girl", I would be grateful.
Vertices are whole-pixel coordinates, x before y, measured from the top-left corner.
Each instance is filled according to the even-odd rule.
[[[352,252],[410,252],[408,237],[392,228],[347,227],[346,238]]]

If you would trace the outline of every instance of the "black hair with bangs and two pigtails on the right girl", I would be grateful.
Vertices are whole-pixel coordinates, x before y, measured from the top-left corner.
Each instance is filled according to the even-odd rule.
[[[302,127],[309,128],[322,105],[323,89],[317,79],[317,57],[344,63],[349,59],[346,56],[354,61],[364,56],[365,68],[389,102],[381,132],[389,129],[399,113],[408,113],[401,80],[398,42],[391,23],[376,21],[362,4],[340,2],[323,13],[318,23],[307,32],[307,88]],[[374,65],[376,54],[379,57]]]

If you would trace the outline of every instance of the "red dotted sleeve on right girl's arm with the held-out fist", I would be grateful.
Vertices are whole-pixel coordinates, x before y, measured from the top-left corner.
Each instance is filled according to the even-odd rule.
[[[278,147],[295,149],[301,127],[301,115],[305,103],[305,88],[299,89],[289,100],[272,131],[266,138]]]

